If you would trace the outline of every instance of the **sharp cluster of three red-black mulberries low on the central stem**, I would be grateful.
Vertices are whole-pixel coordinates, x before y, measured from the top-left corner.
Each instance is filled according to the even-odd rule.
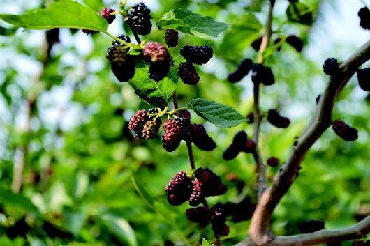
[[[180,171],[165,186],[165,193],[168,195],[168,202],[173,206],[188,201],[191,206],[198,206],[205,201],[205,197],[219,196],[228,190],[223,185],[221,178],[207,168],[195,170],[193,178],[186,176]]]

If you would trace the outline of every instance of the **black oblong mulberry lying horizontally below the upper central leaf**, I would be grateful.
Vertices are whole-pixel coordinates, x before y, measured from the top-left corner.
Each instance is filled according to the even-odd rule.
[[[202,65],[207,63],[213,56],[213,49],[207,45],[191,46],[185,45],[180,49],[180,54],[188,61],[188,63],[195,63]]]

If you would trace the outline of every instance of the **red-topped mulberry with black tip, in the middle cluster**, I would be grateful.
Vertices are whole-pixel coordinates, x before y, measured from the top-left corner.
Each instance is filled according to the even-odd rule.
[[[165,133],[163,134],[162,146],[168,151],[172,152],[177,149],[181,141],[181,128],[177,125],[177,122],[170,118],[164,124],[163,128]]]

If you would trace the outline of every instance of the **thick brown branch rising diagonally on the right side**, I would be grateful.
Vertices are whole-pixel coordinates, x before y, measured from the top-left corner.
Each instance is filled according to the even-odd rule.
[[[323,93],[323,98],[320,100],[315,114],[313,114],[311,124],[306,126],[304,134],[299,137],[297,145],[293,148],[292,153],[290,153],[286,164],[279,169],[272,185],[262,194],[260,202],[253,214],[249,234],[252,240],[258,245],[266,244],[272,240],[272,233],[269,232],[269,222],[275,207],[283,195],[289,190],[295,178],[297,178],[300,164],[306,153],[330,126],[334,101],[339,95],[339,92],[357,68],[369,59],[370,41],[358,49],[347,61],[343,62],[336,75],[330,77]]]

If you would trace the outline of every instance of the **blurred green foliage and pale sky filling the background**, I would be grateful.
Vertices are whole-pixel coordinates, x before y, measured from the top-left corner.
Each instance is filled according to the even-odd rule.
[[[19,1],[19,13],[50,1]],[[94,10],[117,8],[116,1],[84,1]],[[128,4],[130,4],[129,2]],[[133,3],[133,2],[132,2]],[[131,3],[131,4],[132,4]],[[214,100],[235,107],[243,115],[253,109],[250,75],[238,84],[227,81],[239,61],[256,52],[251,42],[263,33],[269,1],[148,1],[154,22],[175,8],[189,9],[231,24],[220,38],[203,39],[180,35],[183,45],[209,45],[214,58],[198,67],[200,83],[187,86],[179,81],[179,106],[194,98]],[[320,1],[305,1],[320,13]],[[4,1],[3,4],[11,4]],[[276,33],[272,38],[295,34],[309,46],[311,26],[287,23],[288,1],[276,1]],[[252,15],[253,14],[253,15]],[[354,17],[355,18],[355,17]],[[132,33],[116,20],[117,33]],[[165,185],[177,171],[190,171],[184,143],[172,153],[156,139],[141,141],[127,128],[138,109],[150,109],[128,84],[117,82],[105,59],[112,40],[103,34],[86,36],[80,30],[60,29],[60,43],[47,55],[45,31],[15,31],[0,22],[0,242],[1,245],[193,245],[202,238],[211,243],[211,229],[186,219],[188,204],[175,207],[166,201]],[[279,29],[277,29],[277,27]],[[313,24],[315,26],[315,23]],[[108,29],[109,31],[109,29]],[[151,38],[164,43],[163,32]],[[348,49],[341,40],[333,43]],[[316,47],[320,49],[320,47]],[[306,47],[304,47],[306,49]],[[171,50],[179,55],[179,48]],[[341,57],[346,59],[346,57]],[[180,59],[181,60],[181,59]],[[294,66],[292,64],[294,63]],[[316,96],[325,88],[321,64],[303,52],[283,44],[281,52],[267,59],[276,84],[261,93],[262,112],[278,108],[290,117],[287,129],[262,122],[260,151],[266,160],[284,162],[310,114]],[[359,139],[345,142],[328,129],[309,151],[299,177],[276,208],[272,231],[276,235],[299,233],[306,220],[324,220],[327,229],[350,226],[370,213],[370,103],[353,78],[334,107],[334,118],[357,128]],[[193,123],[205,121],[192,115]],[[29,124],[29,130],[27,125]],[[239,130],[249,137],[253,125],[216,128],[205,123],[217,148],[194,149],[197,167],[209,167],[228,185],[228,192],[212,197],[210,204],[239,203],[256,199],[253,157],[241,153],[225,162],[222,153]],[[13,170],[24,158],[22,188],[11,191]],[[277,169],[267,168],[272,180]],[[249,221],[228,220],[233,245],[246,235]],[[345,245],[350,245],[346,243]]]

